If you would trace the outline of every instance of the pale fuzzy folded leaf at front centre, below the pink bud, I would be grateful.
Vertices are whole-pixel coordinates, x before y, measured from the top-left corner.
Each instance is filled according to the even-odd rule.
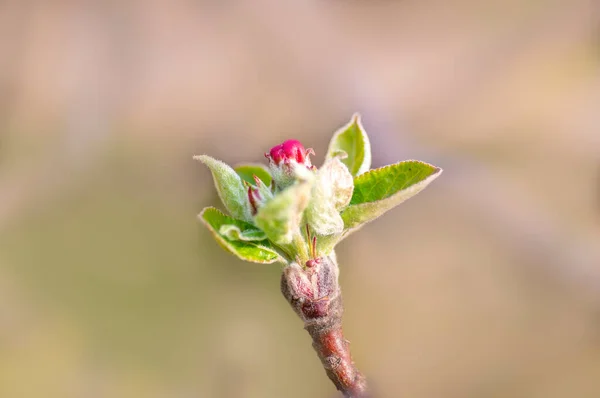
[[[310,200],[311,181],[298,181],[258,209],[256,225],[276,244],[288,244],[298,232],[302,213]]]

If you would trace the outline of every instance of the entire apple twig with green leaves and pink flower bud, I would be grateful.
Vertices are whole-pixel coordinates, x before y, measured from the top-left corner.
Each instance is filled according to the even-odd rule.
[[[333,134],[321,167],[297,140],[276,145],[263,164],[231,167],[195,156],[211,171],[225,211],[199,215],[217,243],[238,258],[284,265],[281,290],[313,338],[329,378],[348,397],[365,397],[341,329],[335,246],[364,224],[416,195],[442,170],[406,160],[371,169],[360,117]]]

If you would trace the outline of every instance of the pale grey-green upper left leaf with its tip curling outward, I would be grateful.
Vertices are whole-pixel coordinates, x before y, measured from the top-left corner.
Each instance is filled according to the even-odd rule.
[[[219,197],[229,214],[237,219],[252,221],[248,194],[235,170],[207,155],[194,156],[194,159],[204,163],[212,172]]]

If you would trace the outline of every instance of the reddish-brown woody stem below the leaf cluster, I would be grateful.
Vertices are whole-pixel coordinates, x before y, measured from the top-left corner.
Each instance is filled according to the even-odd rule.
[[[329,379],[345,397],[367,398],[367,382],[350,355],[342,332],[341,289],[334,257],[320,257],[305,267],[293,263],[283,270],[281,291],[313,339]]]

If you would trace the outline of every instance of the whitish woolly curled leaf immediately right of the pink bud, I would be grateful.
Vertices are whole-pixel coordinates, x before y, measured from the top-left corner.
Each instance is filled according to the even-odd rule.
[[[344,229],[340,210],[352,198],[354,183],[348,168],[332,158],[317,171],[312,198],[306,211],[308,224],[317,235],[339,234]]]

